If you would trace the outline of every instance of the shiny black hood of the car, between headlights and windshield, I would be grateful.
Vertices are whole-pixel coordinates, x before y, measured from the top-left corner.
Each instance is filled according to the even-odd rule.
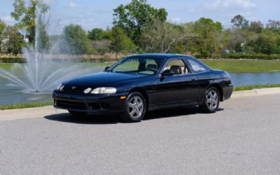
[[[106,85],[114,85],[120,81],[132,80],[135,78],[144,78],[146,75],[137,73],[115,73],[115,72],[99,72],[86,76],[80,76],[64,83],[65,86],[76,87],[106,87]]]

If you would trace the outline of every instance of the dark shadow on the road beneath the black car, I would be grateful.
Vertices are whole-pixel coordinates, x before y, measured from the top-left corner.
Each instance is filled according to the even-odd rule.
[[[223,109],[218,109],[217,111],[223,111]],[[177,116],[190,116],[197,113],[202,113],[197,106],[181,107],[181,108],[170,108],[161,109],[157,111],[151,111],[146,113],[143,120],[156,120],[158,118],[172,118]],[[205,113],[207,114],[207,113]],[[89,114],[87,116],[71,116],[70,113],[59,113],[50,116],[45,116],[45,119],[55,120],[64,123],[76,123],[76,124],[93,124],[93,125],[111,125],[118,123],[125,123],[118,116],[97,116]]]

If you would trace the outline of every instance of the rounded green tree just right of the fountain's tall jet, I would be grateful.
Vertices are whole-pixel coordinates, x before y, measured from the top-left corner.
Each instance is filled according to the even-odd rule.
[[[80,25],[68,25],[63,29],[64,39],[72,54],[80,55],[88,51],[89,39]]]

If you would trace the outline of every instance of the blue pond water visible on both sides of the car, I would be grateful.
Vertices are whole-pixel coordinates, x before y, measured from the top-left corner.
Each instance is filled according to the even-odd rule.
[[[278,73],[230,73],[232,83],[235,86],[261,85],[280,83]],[[0,105],[22,104],[30,102],[43,102],[52,100],[51,93],[27,94],[20,92],[20,87],[8,86],[10,82],[6,78],[0,78]]]

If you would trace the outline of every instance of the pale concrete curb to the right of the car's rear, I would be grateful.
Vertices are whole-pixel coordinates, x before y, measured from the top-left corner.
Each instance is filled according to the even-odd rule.
[[[267,94],[280,94],[280,87],[237,91],[232,93],[231,98],[254,97]]]

